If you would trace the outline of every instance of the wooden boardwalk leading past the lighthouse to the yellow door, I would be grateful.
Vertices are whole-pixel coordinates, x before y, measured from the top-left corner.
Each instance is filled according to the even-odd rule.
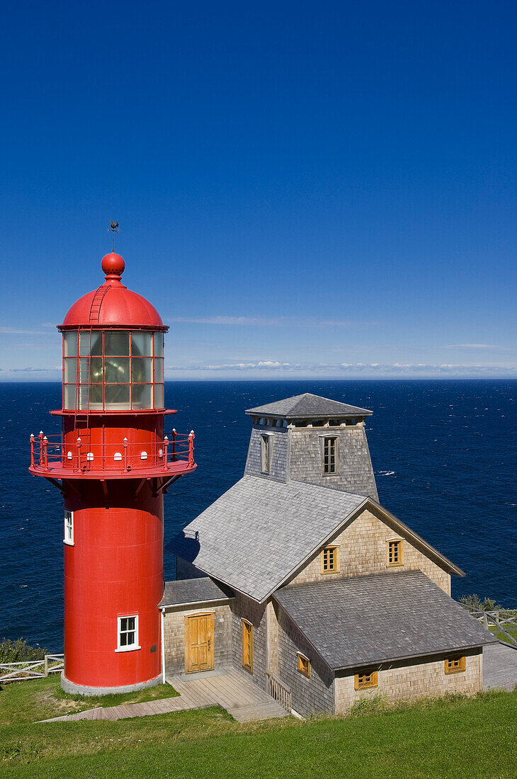
[[[150,714],[167,714],[171,711],[220,706],[239,722],[287,717],[276,700],[259,689],[251,679],[234,669],[209,671],[191,676],[171,676],[167,679],[179,696],[161,698],[146,703],[125,703],[121,706],[97,707],[64,717],[52,717],[44,722],[72,722],[77,720],[124,720],[129,717],[146,717]]]

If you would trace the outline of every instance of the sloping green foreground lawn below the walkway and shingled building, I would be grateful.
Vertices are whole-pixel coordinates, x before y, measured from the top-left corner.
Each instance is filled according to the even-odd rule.
[[[360,717],[239,724],[218,707],[129,720],[32,724],[47,687],[0,691],[0,776],[514,779],[517,693],[427,700]],[[11,689],[14,687],[10,686]],[[8,693],[5,695],[5,693]],[[20,699],[26,703],[21,706]],[[30,709],[30,702],[33,709]],[[2,721],[11,724],[1,724]],[[499,760],[498,756],[503,758]]]

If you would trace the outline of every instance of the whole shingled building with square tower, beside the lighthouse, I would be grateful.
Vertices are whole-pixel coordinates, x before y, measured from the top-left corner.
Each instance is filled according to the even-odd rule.
[[[371,411],[305,393],[246,413],[243,478],[172,544],[166,674],[239,668],[303,715],[480,690],[494,639],[450,597],[462,570],[378,503]]]

